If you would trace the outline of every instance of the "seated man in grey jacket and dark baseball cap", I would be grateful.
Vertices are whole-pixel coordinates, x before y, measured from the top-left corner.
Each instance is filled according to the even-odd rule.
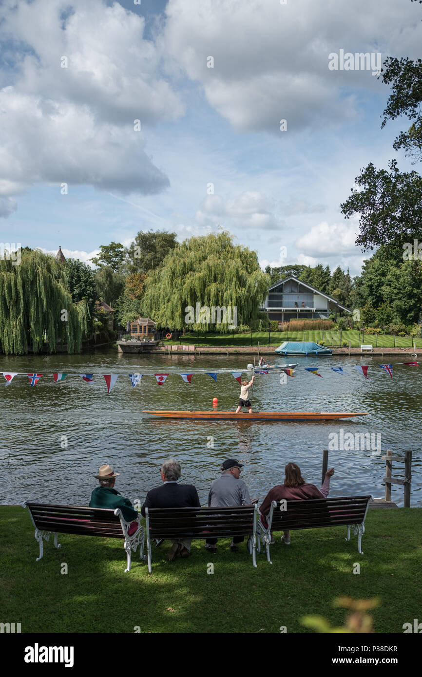
[[[221,477],[213,481],[208,494],[209,508],[222,508],[232,506],[245,506],[251,504],[248,487],[240,478],[240,468],[243,465],[234,458],[228,458],[221,465],[223,471]],[[232,552],[238,552],[238,543],[242,542],[243,536],[234,536],[230,544]],[[207,538],[205,548],[208,552],[217,552],[217,538]]]

